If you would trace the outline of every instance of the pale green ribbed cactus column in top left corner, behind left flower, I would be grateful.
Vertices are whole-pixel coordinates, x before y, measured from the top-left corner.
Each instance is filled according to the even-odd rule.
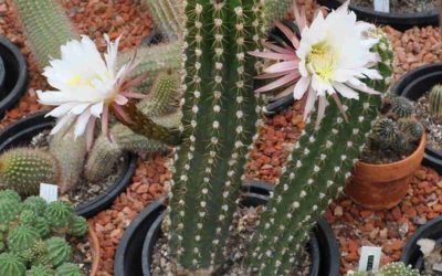
[[[60,57],[61,45],[69,40],[78,39],[59,2],[53,0],[13,0],[13,3],[41,67],[49,64],[50,57]]]

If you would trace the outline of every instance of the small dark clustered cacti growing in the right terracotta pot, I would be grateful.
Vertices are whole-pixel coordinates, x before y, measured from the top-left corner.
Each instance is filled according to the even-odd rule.
[[[370,163],[398,161],[412,153],[422,138],[423,126],[414,117],[414,106],[406,97],[385,98],[383,114],[375,121],[362,160]]]

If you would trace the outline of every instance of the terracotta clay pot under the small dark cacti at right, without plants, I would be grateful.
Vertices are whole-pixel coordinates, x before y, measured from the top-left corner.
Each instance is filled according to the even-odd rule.
[[[371,210],[391,209],[406,197],[411,177],[419,169],[425,149],[425,135],[408,158],[386,164],[359,161],[347,180],[345,193]]]

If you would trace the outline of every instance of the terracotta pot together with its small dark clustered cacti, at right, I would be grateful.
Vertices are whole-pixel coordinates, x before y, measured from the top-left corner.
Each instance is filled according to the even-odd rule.
[[[404,97],[386,98],[383,115],[373,124],[345,189],[356,203],[390,209],[406,197],[425,147],[424,129],[413,109]]]

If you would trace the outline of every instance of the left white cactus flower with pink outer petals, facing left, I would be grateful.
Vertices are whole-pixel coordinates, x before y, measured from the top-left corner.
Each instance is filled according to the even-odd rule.
[[[74,127],[76,137],[86,132],[87,146],[92,145],[96,119],[102,119],[102,131],[108,135],[109,108],[120,119],[129,121],[122,106],[129,98],[143,98],[143,94],[129,92],[146,76],[126,82],[136,64],[134,57],[117,70],[118,38],[110,42],[105,34],[107,53],[104,59],[95,43],[83,35],[81,41],[70,41],[61,46],[61,59],[50,61],[43,75],[48,83],[57,91],[38,91],[39,102],[56,106],[46,116],[59,118],[51,135],[64,126]]]

